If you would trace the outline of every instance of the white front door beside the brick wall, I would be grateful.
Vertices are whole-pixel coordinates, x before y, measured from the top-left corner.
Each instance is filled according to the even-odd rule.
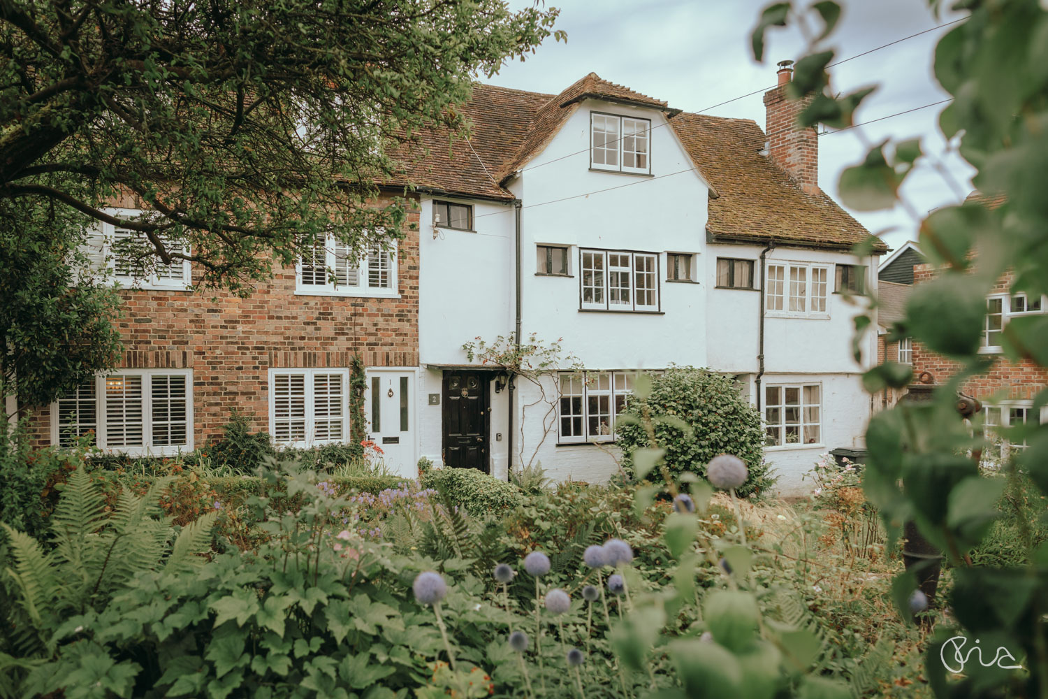
[[[415,371],[368,369],[364,412],[368,439],[383,450],[386,466],[393,474],[415,478]]]

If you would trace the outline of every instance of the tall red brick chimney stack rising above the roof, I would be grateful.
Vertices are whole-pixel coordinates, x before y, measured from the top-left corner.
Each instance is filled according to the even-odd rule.
[[[779,62],[779,84],[764,93],[765,132],[768,155],[808,194],[818,190],[818,134],[814,127],[801,129],[796,117],[809,103],[791,101],[787,86],[793,79],[793,62]]]

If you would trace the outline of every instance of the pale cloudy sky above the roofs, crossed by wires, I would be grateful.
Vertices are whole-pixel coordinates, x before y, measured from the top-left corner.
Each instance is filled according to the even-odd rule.
[[[510,0],[515,7],[528,0]],[[776,84],[776,63],[803,56],[795,28],[768,34],[765,63],[756,63],[749,34],[765,1],[736,0],[561,0],[556,28],[567,43],[551,39],[524,63],[516,62],[485,82],[522,90],[556,93],[591,70],[605,80],[665,100],[671,107],[719,116],[751,118],[764,127],[761,92]],[[802,3],[798,3],[802,4]],[[843,0],[844,14],[829,46],[834,61],[875,49],[961,17],[933,16],[926,0]],[[946,26],[901,41],[831,68],[831,86],[840,92],[879,85],[856,114],[856,122],[879,119],[948,99],[932,72],[935,44]],[[729,104],[720,103],[735,100]],[[949,153],[939,133],[945,105],[918,109],[868,126],[820,137],[818,176],[836,198],[840,171],[861,159],[864,143],[920,136],[930,157],[908,178],[902,196],[921,216],[963,199],[971,189],[971,169]],[[902,206],[891,212],[852,212],[871,232],[895,247],[917,236],[916,222]]]

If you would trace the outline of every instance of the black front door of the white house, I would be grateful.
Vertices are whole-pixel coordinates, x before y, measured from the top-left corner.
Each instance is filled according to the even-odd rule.
[[[488,473],[487,384],[480,371],[445,371],[444,465]]]

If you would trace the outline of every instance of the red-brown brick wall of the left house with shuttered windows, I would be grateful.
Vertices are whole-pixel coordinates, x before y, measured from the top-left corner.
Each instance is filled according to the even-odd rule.
[[[386,203],[379,200],[377,203]],[[135,207],[133,201],[121,205]],[[418,211],[397,247],[399,299],[296,296],[294,268],[247,299],[215,290],[126,290],[118,368],[192,368],[194,443],[221,434],[236,408],[269,428],[270,367],[418,365]],[[50,442],[50,410],[35,411],[38,443]]]

